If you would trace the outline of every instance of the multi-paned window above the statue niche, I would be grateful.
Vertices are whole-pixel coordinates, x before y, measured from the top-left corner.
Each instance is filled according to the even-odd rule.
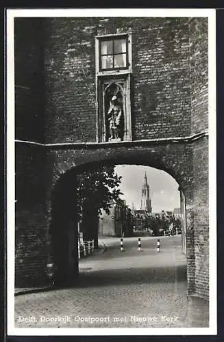
[[[128,67],[127,37],[100,40],[100,70],[116,70]]]

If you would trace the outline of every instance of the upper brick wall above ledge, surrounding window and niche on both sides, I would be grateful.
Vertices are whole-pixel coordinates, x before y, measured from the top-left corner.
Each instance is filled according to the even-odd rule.
[[[132,31],[134,139],[190,135],[186,18],[45,21],[47,142],[95,142],[95,36]]]

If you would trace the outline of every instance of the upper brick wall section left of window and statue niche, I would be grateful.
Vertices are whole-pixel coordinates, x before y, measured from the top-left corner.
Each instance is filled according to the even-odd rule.
[[[95,26],[52,18],[46,30],[46,141],[95,142]]]

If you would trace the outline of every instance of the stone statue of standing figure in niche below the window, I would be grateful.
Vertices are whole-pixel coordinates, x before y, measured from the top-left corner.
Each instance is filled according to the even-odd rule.
[[[108,122],[110,129],[109,140],[121,141],[121,119],[123,116],[123,110],[121,100],[114,95],[110,101],[110,108],[108,110]]]

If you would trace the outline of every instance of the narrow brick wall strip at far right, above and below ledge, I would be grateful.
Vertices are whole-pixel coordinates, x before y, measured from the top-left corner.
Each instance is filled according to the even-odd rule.
[[[190,33],[190,94],[192,134],[208,131],[208,20],[192,18]],[[195,243],[195,291],[208,298],[209,198],[208,138],[193,144],[193,205]]]

